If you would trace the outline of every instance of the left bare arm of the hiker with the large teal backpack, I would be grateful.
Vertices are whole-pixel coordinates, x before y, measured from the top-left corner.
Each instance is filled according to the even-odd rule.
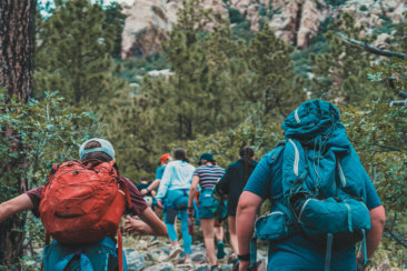
[[[250,253],[250,240],[254,234],[257,210],[261,203],[262,199],[252,192],[244,191],[240,195],[236,215],[239,255]],[[249,261],[241,261],[239,268],[245,270],[249,264]]]

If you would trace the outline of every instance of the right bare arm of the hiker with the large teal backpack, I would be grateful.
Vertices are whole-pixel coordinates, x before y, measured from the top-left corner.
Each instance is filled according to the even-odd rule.
[[[370,210],[370,231],[366,237],[367,258],[370,259],[379,245],[383,229],[385,228],[386,212],[383,205],[378,205]]]

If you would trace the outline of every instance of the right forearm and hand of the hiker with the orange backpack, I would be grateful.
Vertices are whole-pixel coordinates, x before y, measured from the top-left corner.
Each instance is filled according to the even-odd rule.
[[[167,227],[151,210],[146,208],[139,214],[140,219],[126,217],[125,231],[133,232],[136,235],[167,235]]]

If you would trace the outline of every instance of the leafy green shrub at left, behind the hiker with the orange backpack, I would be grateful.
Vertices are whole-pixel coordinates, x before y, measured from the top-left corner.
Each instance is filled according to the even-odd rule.
[[[17,177],[27,178],[30,187],[41,185],[52,163],[77,159],[78,145],[91,133],[96,116],[69,107],[62,97],[49,92],[43,100],[31,99],[26,104],[17,99],[6,102],[6,91],[1,90],[0,100],[1,161],[12,164],[23,157],[27,164],[20,172],[4,172],[0,183],[2,202],[19,193]],[[13,144],[24,149],[16,153]]]

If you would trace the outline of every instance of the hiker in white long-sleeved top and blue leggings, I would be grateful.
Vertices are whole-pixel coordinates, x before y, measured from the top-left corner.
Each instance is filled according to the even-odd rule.
[[[181,220],[181,233],[183,239],[183,264],[191,264],[190,253],[192,238],[188,231],[188,199],[191,187],[192,173],[195,167],[189,163],[187,152],[183,149],[176,149],[173,152],[175,161],[167,164],[157,193],[157,204],[162,208],[162,201],[166,200],[165,223],[167,225],[168,237],[170,239],[169,258],[176,258],[181,249],[178,244],[176,230],[176,218]]]

